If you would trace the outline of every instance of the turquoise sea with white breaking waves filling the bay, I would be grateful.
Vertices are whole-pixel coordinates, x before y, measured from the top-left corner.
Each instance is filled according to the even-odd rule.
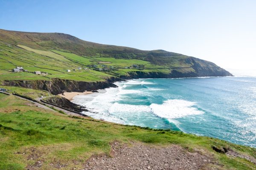
[[[182,130],[256,147],[256,78],[138,79],[79,95],[85,114],[122,124]]]

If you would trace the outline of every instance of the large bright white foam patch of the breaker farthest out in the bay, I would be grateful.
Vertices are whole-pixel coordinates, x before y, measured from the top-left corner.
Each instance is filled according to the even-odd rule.
[[[164,101],[163,104],[151,104],[150,108],[155,115],[168,119],[204,114],[204,111],[198,110],[195,105],[195,102],[174,99]]]

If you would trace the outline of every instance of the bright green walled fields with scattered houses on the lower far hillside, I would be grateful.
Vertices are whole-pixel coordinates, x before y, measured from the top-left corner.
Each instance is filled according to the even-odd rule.
[[[21,47],[21,48],[19,48]],[[104,81],[113,76],[127,75],[129,72],[162,72],[169,74],[172,69],[158,66],[148,61],[137,59],[116,59],[105,57],[85,57],[70,52],[57,50],[44,51],[27,46],[12,46],[0,43],[0,80],[49,80],[61,78],[73,81]],[[109,63],[100,63],[109,62]],[[138,69],[133,65],[145,65],[145,69]],[[92,67],[92,65],[95,65]],[[22,66],[28,72],[12,72],[16,66]],[[79,70],[78,68],[82,69]],[[130,68],[131,67],[131,68]],[[85,70],[84,68],[87,68]],[[108,68],[105,72],[95,71],[97,68]],[[71,72],[67,72],[67,69]],[[48,75],[35,75],[41,71]]]

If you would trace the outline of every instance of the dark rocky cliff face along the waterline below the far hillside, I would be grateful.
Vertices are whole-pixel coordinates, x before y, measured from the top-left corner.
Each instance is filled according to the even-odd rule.
[[[209,68],[193,68],[197,69],[196,72],[190,73],[181,73],[176,70],[173,70],[170,74],[164,74],[160,72],[129,72],[128,75],[122,75],[120,78],[111,77],[106,81],[97,81],[97,82],[84,82],[84,81],[71,81],[63,80],[58,78],[53,78],[49,81],[3,81],[3,85],[8,86],[19,86],[30,89],[41,89],[51,92],[53,95],[61,94],[63,92],[84,92],[85,90],[97,90],[105,89],[108,87],[116,87],[113,82],[122,81],[124,79],[132,78],[186,78],[186,77],[205,77],[205,76],[232,76],[230,72],[227,72],[224,69],[212,71]]]

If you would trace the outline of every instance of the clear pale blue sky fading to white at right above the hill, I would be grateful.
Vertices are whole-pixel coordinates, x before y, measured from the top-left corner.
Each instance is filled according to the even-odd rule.
[[[0,0],[0,29],[62,32],[256,72],[256,0]]]

